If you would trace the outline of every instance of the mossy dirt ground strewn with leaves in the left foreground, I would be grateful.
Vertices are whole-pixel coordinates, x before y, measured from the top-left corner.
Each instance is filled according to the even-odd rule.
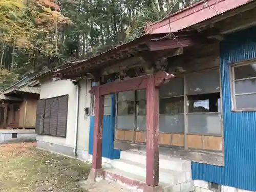
[[[38,150],[35,143],[0,145],[1,192],[80,192],[90,165]]]

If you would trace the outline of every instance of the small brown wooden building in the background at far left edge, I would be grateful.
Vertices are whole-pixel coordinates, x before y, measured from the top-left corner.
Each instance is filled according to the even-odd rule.
[[[0,98],[2,129],[35,129],[40,85],[38,81],[31,79],[36,75],[30,73],[2,91]]]

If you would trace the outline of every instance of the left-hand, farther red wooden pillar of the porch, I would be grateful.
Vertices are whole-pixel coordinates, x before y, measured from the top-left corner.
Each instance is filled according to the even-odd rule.
[[[104,96],[100,95],[99,86],[95,89],[95,118],[93,135],[93,163],[92,168],[101,168],[102,128],[104,113]]]

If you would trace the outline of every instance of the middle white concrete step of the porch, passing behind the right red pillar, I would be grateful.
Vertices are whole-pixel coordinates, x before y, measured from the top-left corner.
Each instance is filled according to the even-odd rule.
[[[138,175],[140,177],[146,177],[146,164],[141,164],[134,161],[125,159],[112,160],[111,164],[114,168],[122,170],[127,173]],[[165,168],[159,169],[159,182],[167,185],[174,186],[176,184],[185,183],[191,180],[190,171],[176,171]]]

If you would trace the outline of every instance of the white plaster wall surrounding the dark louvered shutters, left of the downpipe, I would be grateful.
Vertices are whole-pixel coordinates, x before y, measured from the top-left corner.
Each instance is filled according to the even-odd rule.
[[[37,135],[38,141],[74,147],[75,139],[75,117],[76,117],[76,93],[77,86],[71,80],[57,80],[41,82],[40,99],[48,99],[61,95],[69,95],[67,136],[66,138],[52,137],[47,135]]]

